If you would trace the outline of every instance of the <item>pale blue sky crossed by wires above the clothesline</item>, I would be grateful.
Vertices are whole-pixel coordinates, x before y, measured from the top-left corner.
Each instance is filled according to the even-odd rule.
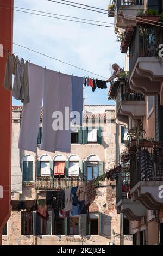
[[[102,9],[106,9],[109,4],[109,0],[72,2]],[[14,6],[114,23],[114,18],[108,15],[47,0],[15,0]],[[114,28],[110,27],[98,27],[14,11],[14,42],[108,78],[110,64],[116,62],[123,68],[125,63],[125,55],[120,51],[120,43],[116,42]],[[76,76],[100,78],[16,45],[14,52],[21,58],[30,59],[30,62],[46,66],[48,69]],[[84,87],[85,103],[114,104],[114,101],[107,100],[108,90],[109,88],[96,89],[92,92],[91,87]],[[20,101],[13,99],[12,104],[20,105]]]

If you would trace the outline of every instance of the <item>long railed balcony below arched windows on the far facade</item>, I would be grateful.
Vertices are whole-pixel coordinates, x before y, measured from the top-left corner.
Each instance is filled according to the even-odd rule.
[[[36,190],[58,190],[79,186],[83,184],[83,180],[78,177],[53,178],[52,176],[36,178]]]

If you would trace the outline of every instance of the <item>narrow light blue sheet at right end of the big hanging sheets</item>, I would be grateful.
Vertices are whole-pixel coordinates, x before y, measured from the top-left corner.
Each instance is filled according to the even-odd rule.
[[[78,120],[76,125],[82,125],[83,78],[78,76],[72,76],[72,111],[78,111],[80,113],[80,120]]]

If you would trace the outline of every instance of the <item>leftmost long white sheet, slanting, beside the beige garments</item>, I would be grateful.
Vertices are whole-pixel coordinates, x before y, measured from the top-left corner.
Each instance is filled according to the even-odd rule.
[[[28,64],[30,102],[23,106],[18,148],[36,152],[43,99],[44,68]]]

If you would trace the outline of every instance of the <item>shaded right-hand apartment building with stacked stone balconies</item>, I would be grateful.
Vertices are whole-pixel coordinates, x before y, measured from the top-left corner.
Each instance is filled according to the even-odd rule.
[[[121,52],[129,49],[129,76],[115,81],[110,98],[130,136],[116,179],[116,208],[132,222],[134,245],[163,244],[162,2],[115,0],[109,10],[115,33],[123,33]]]

